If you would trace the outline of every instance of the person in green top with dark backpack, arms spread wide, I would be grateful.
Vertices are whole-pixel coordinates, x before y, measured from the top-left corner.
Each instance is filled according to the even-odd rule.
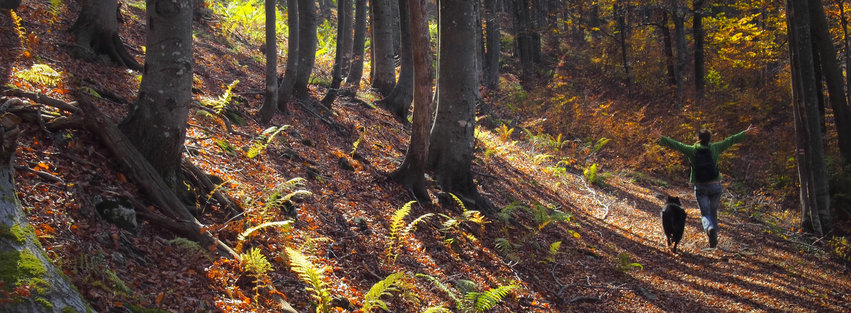
[[[712,133],[708,129],[697,132],[698,142],[687,145],[670,137],[661,136],[659,131],[654,132],[654,137],[659,138],[659,144],[681,152],[689,159],[691,171],[689,182],[694,185],[694,197],[700,208],[700,221],[703,231],[709,239],[709,247],[714,249],[718,245],[718,208],[721,205],[721,172],[718,171],[718,156],[724,150],[734,144],[747,139],[747,135],[756,132],[753,125],[748,126],[742,132],[725,138],[718,142],[712,142]],[[705,155],[705,157],[704,157]],[[711,158],[710,158],[711,157]],[[706,161],[702,161],[702,160]]]

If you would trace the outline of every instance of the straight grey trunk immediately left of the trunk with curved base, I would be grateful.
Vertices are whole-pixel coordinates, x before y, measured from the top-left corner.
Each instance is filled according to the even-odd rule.
[[[372,87],[388,95],[396,86],[393,62],[393,14],[391,0],[372,1]]]

